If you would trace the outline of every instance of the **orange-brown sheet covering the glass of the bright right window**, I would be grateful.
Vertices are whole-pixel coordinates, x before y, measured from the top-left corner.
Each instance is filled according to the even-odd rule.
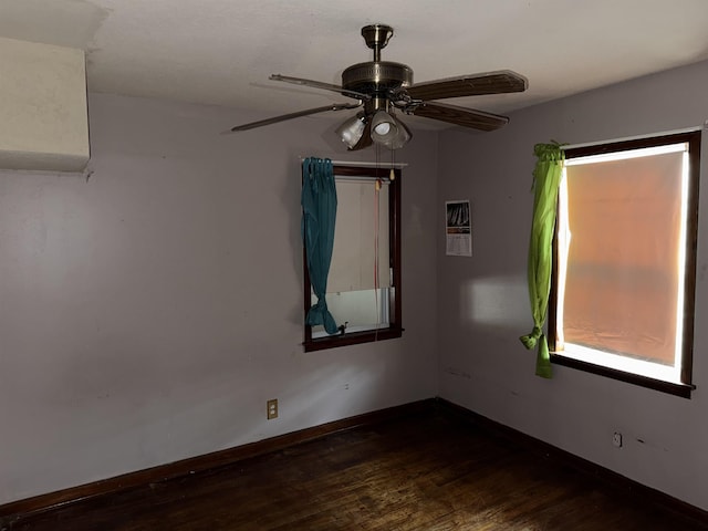
[[[684,158],[681,150],[566,167],[566,345],[665,365],[680,357]]]

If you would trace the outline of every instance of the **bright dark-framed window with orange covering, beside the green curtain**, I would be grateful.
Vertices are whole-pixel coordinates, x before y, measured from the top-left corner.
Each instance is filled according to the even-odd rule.
[[[552,361],[689,397],[700,132],[568,149]]]

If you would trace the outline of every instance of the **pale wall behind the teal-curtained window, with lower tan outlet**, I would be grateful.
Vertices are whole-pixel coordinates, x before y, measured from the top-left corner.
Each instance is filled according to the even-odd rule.
[[[437,394],[435,134],[397,155],[404,337],[305,354],[298,156],[374,152],[314,117],[90,117],[87,178],[0,174],[0,503]]]

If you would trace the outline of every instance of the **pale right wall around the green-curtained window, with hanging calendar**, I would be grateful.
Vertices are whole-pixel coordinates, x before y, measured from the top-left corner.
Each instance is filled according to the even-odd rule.
[[[561,366],[553,379],[539,378],[535,352],[525,351],[518,337],[532,327],[525,257],[533,145],[701,125],[708,117],[706,86],[708,63],[701,63],[518,112],[506,129],[486,136],[444,132],[437,218],[442,230],[442,201],[472,201],[473,257],[445,257],[444,241],[438,242],[441,396],[702,509],[708,509],[708,190],[700,198],[698,388],[690,400]],[[704,188],[707,175],[704,140]],[[621,449],[612,446],[615,430],[624,434]]]

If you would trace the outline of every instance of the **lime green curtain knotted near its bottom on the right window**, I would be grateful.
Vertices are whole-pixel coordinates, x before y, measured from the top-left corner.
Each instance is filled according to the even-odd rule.
[[[549,344],[543,334],[543,323],[551,292],[553,230],[564,153],[561,145],[555,142],[537,144],[533,153],[537,156],[537,163],[533,170],[533,220],[529,241],[529,299],[533,331],[522,335],[520,340],[529,350],[538,346],[535,374],[551,378],[553,372]]]

